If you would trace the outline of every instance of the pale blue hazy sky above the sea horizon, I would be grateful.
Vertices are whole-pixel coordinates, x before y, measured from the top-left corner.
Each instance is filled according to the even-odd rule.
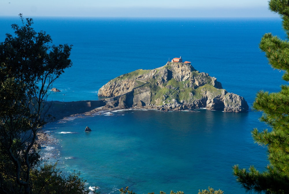
[[[1,0],[0,16],[278,17],[267,0]]]

